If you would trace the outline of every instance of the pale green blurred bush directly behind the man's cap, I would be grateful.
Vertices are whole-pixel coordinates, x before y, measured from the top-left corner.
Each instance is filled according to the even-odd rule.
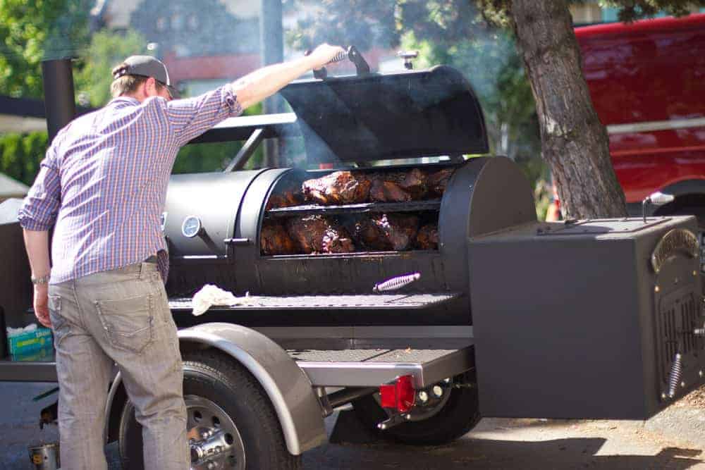
[[[75,67],[75,88],[80,104],[98,107],[110,101],[111,70],[126,57],[145,54],[146,46],[147,39],[132,30],[95,33]]]

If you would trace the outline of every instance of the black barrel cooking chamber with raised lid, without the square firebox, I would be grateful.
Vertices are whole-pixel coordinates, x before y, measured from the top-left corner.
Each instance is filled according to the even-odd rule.
[[[266,210],[272,194],[331,170],[174,175],[165,209],[171,295],[188,297],[207,282],[240,295],[366,295],[347,309],[331,304],[325,314],[319,302],[313,308],[292,299],[287,309],[298,311],[281,315],[278,323],[313,326],[325,316],[327,325],[469,325],[467,236],[532,221],[536,215],[532,190],[510,161],[462,159],[462,154],[487,152],[482,111],[467,80],[453,68],[437,67],[399,75],[305,80],[284,89],[283,96],[298,117],[309,162],[372,174],[389,169],[369,167],[372,161],[450,156],[446,163],[423,166],[424,171],[454,168],[443,198]],[[500,199],[503,203],[496,204]],[[267,219],[374,213],[417,214],[438,223],[439,249],[274,256],[260,249],[260,230]],[[202,231],[184,237],[183,223],[194,215]],[[374,283],[412,272],[422,276],[398,291],[403,300],[380,304],[372,295]],[[279,309],[273,305],[271,310]],[[254,322],[264,316],[268,324],[277,322],[275,314],[262,311],[242,315]]]

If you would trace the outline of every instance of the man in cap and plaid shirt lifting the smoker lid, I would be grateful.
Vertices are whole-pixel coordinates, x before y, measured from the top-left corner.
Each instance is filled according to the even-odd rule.
[[[113,364],[143,426],[145,468],[189,468],[159,221],[176,153],[341,51],[323,44],[308,56],[173,101],[164,64],[132,56],[113,70],[115,98],[56,135],[19,219],[37,319],[54,329],[63,468],[106,469],[104,407]]]

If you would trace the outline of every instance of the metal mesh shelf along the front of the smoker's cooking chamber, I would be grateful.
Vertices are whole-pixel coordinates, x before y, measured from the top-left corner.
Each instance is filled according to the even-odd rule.
[[[295,295],[252,296],[238,305],[214,305],[212,310],[407,310],[424,309],[460,297],[459,292],[442,294]],[[190,311],[192,299],[169,299],[173,311]]]

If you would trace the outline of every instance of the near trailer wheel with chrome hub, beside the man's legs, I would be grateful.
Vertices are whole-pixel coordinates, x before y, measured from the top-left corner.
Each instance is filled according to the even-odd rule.
[[[301,468],[301,457],[286,449],[276,412],[261,385],[230,357],[214,350],[185,354],[183,394],[191,469]],[[142,426],[130,402],[123,409],[119,440],[123,468],[144,469]],[[216,445],[225,450],[208,457],[209,447]]]

